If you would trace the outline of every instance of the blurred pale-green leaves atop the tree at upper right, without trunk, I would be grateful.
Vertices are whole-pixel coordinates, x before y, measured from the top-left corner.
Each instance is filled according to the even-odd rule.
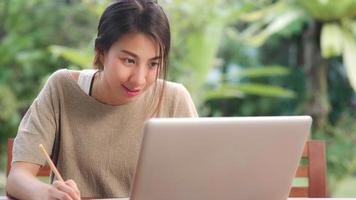
[[[356,91],[356,65],[351,59],[347,59],[347,55],[354,53],[356,35],[345,35],[345,32],[356,31],[356,23],[352,20],[352,17],[356,16],[355,8],[356,0],[279,0],[243,16],[242,19],[248,22],[249,26],[241,35],[249,44],[259,47],[273,35],[283,35],[292,24],[300,25],[312,19],[324,21],[320,36],[322,56],[330,58],[343,54],[350,83]],[[306,13],[309,13],[309,16]],[[333,22],[329,23],[330,20]],[[300,31],[302,30],[295,29],[294,34]]]

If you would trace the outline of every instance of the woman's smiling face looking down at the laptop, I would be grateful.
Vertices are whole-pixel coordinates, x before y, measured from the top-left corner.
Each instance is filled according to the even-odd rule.
[[[104,84],[110,101],[130,102],[141,95],[159,74],[159,45],[143,33],[130,33],[102,56]]]

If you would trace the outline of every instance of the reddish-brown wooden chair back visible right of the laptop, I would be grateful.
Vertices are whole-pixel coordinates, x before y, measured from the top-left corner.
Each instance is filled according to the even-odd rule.
[[[290,197],[327,197],[325,141],[306,143],[296,177],[308,178],[307,187],[292,187]]]

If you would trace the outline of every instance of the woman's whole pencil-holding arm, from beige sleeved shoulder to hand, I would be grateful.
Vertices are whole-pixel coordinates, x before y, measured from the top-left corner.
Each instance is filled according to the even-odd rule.
[[[63,72],[51,75],[22,118],[14,142],[13,160],[8,176],[6,191],[18,199],[67,199],[79,200],[79,190],[72,180],[54,181],[52,185],[41,182],[36,174],[38,164],[45,163],[38,144],[42,143],[52,152],[57,134],[59,98],[57,85]],[[38,164],[34,164],[38,163]]]

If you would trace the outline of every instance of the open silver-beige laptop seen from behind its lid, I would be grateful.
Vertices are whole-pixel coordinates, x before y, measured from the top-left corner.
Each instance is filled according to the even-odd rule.
[[[309,116],[155,118],[130,200],[286,200]]]

